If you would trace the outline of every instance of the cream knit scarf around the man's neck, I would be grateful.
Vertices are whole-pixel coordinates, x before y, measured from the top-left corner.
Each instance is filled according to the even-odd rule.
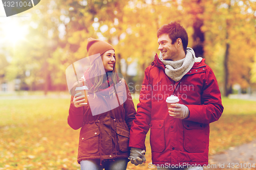
[[[195,62],[202,61],[202,57],[196,58],[195,52],[192,48],[187,48],[186,57],[181,60],[163,60],[161,52],[159,59],[165,65],[165,74],[176,82],[178,82],[185,74],[187,74]]]

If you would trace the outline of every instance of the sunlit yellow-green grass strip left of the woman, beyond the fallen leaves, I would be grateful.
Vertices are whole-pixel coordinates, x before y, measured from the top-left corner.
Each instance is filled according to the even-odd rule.
[[[68,99],[1,100],[0,127],[34,124],[45,119],[64,119],[68,114],[66,109],[69,107],[69,101]]]

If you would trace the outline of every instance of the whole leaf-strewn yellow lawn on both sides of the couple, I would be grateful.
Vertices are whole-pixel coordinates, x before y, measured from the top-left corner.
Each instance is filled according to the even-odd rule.
[[[69,99],[0,100],[1,169],[80,169],[76,161],[79,130],[67,124]],[[138,100],[134,100],[135,106]],[[223,99],[224,113],[210,125],[209,155],[256,138],[256,102]],[[148,169],[146,164],[127,169]]]

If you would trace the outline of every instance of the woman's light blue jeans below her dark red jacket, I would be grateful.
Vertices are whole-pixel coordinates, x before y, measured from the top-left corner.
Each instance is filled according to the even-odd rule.
[[[81,170],[125,170],[127,167],[128,159],[127,158],[117,158],[113,160],[102,161],[100,165],[99,159],[92,160],[82,160],[80,161]]]

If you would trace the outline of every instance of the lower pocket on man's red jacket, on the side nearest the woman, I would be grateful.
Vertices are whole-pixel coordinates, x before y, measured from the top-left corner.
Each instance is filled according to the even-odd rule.
[[[165,148],[164,139],[164,120],[152,120],[150,130],[151,150],[154,152],[163,152]]]

